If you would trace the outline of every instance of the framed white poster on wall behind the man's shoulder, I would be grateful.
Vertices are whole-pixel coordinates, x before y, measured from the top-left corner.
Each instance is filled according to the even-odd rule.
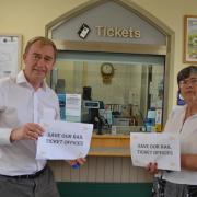
[[[0,78],[15,76],[21,65],[21,35],[0,34]]]

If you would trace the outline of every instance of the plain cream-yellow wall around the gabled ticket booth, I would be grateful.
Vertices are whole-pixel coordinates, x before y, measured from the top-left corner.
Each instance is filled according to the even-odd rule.
[[[171,107],[176,103],[176,73],[183,63],[183,16],[197,14],[195,0],[128,0],[143,8],[175,32],[174,67],[171,68]],[[86,0],[0,0],[0,33],[22,34],[23,43],[45,35],[45,25]]]

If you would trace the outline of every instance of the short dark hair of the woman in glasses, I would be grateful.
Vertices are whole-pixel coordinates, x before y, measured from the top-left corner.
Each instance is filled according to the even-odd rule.
[[[197,66],[192,65],[182,69],[177,74],[177,84],[179,84],[179,82],[185,80],[186,78],[189,78],[193,73],[197,74]]]

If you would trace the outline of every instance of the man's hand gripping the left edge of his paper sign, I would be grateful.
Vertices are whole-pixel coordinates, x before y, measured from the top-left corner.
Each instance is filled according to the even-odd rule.
[[[37,140],[39,136],[43,136],[43,132],[44,129],[38,124],[27,123],[11,131],[10,141],[14,142],[22,139]]]

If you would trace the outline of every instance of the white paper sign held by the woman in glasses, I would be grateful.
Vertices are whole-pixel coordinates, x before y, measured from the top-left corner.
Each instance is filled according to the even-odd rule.
[[[172,134],[130,134],[132,165],[147,166],[157,162],[158,169],[181,171],[179,136]]]

